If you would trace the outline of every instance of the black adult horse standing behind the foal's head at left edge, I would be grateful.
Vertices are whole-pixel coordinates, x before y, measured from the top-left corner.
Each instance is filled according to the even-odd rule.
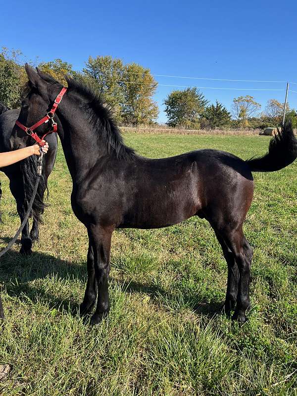
[[[36,142],[33,139],[26,138],[18,140],[15,144],[11,132],[15,121],[17,120],[20,113],[20,109],[9,110],[2,103],[0,103],[0,152],[10,151],[12,148],[23,148],[25,146],[32,145]],[[52,171],[56,151],[57,151],[57,137],[55,134],[47,137],[49,143],[49,151],[45,156],[45,165],[43,168],[43,175],[40,180],[36,198],[33,203],[32,217],[33,225],[31,232],[29,230],[29,222],[22,231],[21,237],[21,249],[20,252],[24,254],[30,254],[32,252],[32,243],[38,240],[39,229],[38,224],[41,222],[41,215],[44,211],[44,194],[47,189],[47,183],[49,175]],[[36,167],[37,167],[37,156],[32,155],[31,157],[4,168],[0,168],[2,172],[9,178],[9,187],[11,194],[16,200],[17,211],[20,216],[21,222],[25,216],[28,203],[32,196],[33,187],[36,181]],[[1,183],[0,183],[0,198],[2,196]]]

